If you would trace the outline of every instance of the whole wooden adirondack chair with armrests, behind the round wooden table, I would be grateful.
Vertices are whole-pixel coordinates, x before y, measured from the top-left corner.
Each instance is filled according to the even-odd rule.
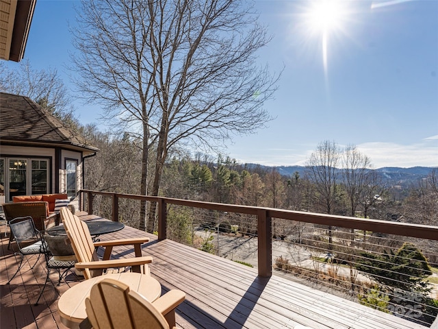
[[[68,208],[61,208],[61,219],[64,223],[68,239],[73,247],[78,263],[75,268],[83,271],[86,279],[100,276],[104,269],[115,267],[131,267],[132,271],[150,275],[147,264],[152,263],[151,256],[142,256],[141,245],[149,241],[149,238],[123,239],[113,241],[92,241],[90,231],[86,223],[73,215]],[[136,257],[110,260],[112,247],[117,245],[133,245]],[[99,260],[96,247],[105,247],[103,260]]]

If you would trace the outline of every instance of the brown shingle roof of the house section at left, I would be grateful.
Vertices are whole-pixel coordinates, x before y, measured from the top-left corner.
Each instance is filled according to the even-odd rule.
[[[0,93],[0,142],[98,151],[29,97]]]

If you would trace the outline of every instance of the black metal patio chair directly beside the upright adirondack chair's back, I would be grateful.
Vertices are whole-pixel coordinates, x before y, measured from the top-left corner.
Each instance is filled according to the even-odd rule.
[[[66,243],[67,235],[49,235],[43,234],[42,238],[42,246],[44,249],[44,256],[46,258],[47,265],[47,278],[46,282],[44,282],[44,287],[42,287],[41,293],[38,296],[38,300],[36,300],[35,305],[38,305],[42,293],[47,285],[47,282],[50,280],[49,275],[52,269],[56,269],[59,275],[59,280],[57,282],[57,286],[60,285],[62,277],[67,273],[69,269],[75,267],[76,259],[75,252],[70,244]],[[61,273],[61,270],[64,271]],[[52,282],[52,281],[51,281]],[[53,284],[53,282],[52,282]],[[53,284],[55,286],[55,284]]]

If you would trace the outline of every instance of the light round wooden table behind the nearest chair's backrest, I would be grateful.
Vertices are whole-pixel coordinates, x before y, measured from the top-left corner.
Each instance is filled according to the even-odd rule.
[[[85,309],[86,297],[90,296],[93,285],[105,278],[111,278],[127,284],[129,289],[137,291],[149,302],[157,300],[162,293],[161,284],[157,280],[141,273],[125,272],[96,276],[76,284],[62,294],[57,302],[57,310],[60,313],[62,324],[68,328],[79,328],[81,321],[87,317]]]

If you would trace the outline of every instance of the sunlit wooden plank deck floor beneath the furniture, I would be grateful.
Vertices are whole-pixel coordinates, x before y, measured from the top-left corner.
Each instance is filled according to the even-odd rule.
[[[85,218],[85,217],[84,217]],[[2,232],[3,232],[2,227]],[[144,236],[144,232],[125,227],[101,240]],[[143,254],[153,256],[151,273],[162,284],[163,293],[181,289],[187,294],[177,308],[177,326],[191,328],[426,328],[413,322],[381,313],[340,297],[306,287],[279,276],[257,276],[257,270],[220,258],[174,241],[157,241],[143,246]],[[70,273],[56,289],[48,284],[40,305],[34,302],[44,285],[44,258],[31,270],[23,266],[10,285],[18,257],[7,250],[8,238],[1,235],[0,249],[0,328],[66,328],[57,315],[57,299],[77,284]],[[133,250],[114,248],[116,258],[129,257]],[[31,258],[31,264],[36,257]],[[32,262],[33,261],[33,262]],[[51,275],[56,282],[57,273]]]

